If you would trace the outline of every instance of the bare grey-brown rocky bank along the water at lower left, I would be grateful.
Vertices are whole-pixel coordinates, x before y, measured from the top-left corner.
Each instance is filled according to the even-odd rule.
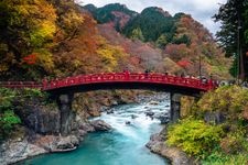
[[[31,132],[1,144],[0,164],[13,164],[41,154],[71,152],[78,147],[88,132],[108,131],[111,127],[101,120],[82,123],[75,135],[41,135]],[[28,131],[28,130],[26,130]]]

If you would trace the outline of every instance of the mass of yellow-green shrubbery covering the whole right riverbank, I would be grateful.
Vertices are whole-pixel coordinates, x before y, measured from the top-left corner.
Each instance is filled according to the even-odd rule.
[[[248,164],[247,107],[247,89],[219,87],[203,95],[192,108],[186,107],[184,117],[193,118],[171,125],[166,142],[190,155],[200,156],[204,165]],[[224,120],[215,122],[215,119],[207,120],[208,116],[216,119],[223,116]]]

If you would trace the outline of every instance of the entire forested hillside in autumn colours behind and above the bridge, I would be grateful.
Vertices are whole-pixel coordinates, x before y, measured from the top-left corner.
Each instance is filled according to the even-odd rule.
[[[133,72],[197,76],[200,57],[203,75],[230,78],[229,61],[211,33],[191,15],[172,16],[157,7],[137,13],[119,3],[86,6],[84,10],[88,9],[95,21],[73,2],[40,0],[20,2],[20,8],[8,2],[1,3],[1,9],[12,15],[1,18],[2,79],[40,80],[121,72],[127,66]],[[30,8],[34,11],[26,13]],[[34,16],[39,8],[43,12]],[[15,13],[19,15],[14,18]]]

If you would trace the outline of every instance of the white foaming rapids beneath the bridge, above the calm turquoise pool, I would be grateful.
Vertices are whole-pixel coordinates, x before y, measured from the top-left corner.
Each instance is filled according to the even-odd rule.
[[[147,134],[148,131],[151,131],[151,127],[154,123],[160,123],[158,119],[151,119],[145,116],[145,111],[149,109],[154,113],[161,113],[161,111],[166,111],[164,105],[168,102],[160,102],[159,105],[140,105],[140,106],[123,106],[120,108],[116,108],[114,113],[107,114],[103,113],[101,117],[97,119],[101,119],[110,124],[115,131],[121,133],[122,135],[132,139],[140,140],[140,134]],[[136,118],[132,119],[132,116]],[[126,122],[130,122],[127,124]]]

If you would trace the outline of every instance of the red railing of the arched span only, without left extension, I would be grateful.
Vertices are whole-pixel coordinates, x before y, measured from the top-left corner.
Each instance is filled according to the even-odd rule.
[[[136,73],[105,73],[105,74],[93,74],[93,75],[78,75],[67,77],[64,79],[53,79],[51,81],[43,80],[43,90],[51,90],[61,87],[76,86],[83,84],[93,82],[111,82],[111,81],[143,81],[143,82],[158,82],[177,85],[190,88],[198,88],[202,90],[209,90],[215,88],[212,80],[202,81],[195,78],[177,77],[164,74],[136,74]]]

